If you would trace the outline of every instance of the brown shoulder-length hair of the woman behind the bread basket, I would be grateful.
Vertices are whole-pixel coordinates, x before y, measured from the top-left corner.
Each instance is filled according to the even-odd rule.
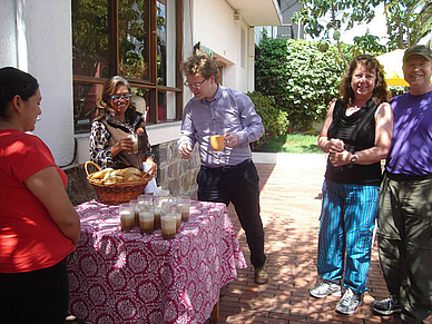
[[[118,86],[126,86],[128,88],[129,94],[131,95],[131,89],[129,82],[119,76],[114,76],[108,79],[104,84],[102,91],[100,92],[99,98],[96,100],[96,107],[99,110],[97,119],[102,119],[107,116],[107,114],[117,114],[117,111],[109,105],[109,97],[114,95],[116,88]],[[134,119],[136,116],[137,109],[132,102],[129,100],[129,107],[126,110],[125,115],[129,117],[129,119]]]

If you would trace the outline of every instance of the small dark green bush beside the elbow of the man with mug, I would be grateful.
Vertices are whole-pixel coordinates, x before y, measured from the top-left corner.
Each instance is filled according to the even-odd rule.
[[[273,97],[264,96],[259,91],[247,92],[247,96],[254,102],[256,112],[263,119],[265,128],[265,134],[252,145],[252,149],[256,150],[271,138],[286,134],[288,119],[286,111],[275,108]]]

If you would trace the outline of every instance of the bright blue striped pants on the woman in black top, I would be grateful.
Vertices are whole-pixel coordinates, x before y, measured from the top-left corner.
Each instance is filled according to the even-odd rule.
[[[325,181],[318,237],[318,275],[366,291],[379,187]]]

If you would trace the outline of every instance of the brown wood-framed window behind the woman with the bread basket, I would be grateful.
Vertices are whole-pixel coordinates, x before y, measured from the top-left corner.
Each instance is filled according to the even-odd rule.
[[[181,118],[181,2],[72,0],[76,132],[89,131],[102,85],[115,75],[149,106],[148,122]]]

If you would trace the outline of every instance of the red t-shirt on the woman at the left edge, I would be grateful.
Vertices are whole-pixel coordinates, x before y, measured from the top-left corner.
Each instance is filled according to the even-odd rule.
[[[66,174],[40,138],[14,129],[0,130],[0,273],[50,267],[75,248],[24,184],[50,166],[56,166],[66,186]]]

